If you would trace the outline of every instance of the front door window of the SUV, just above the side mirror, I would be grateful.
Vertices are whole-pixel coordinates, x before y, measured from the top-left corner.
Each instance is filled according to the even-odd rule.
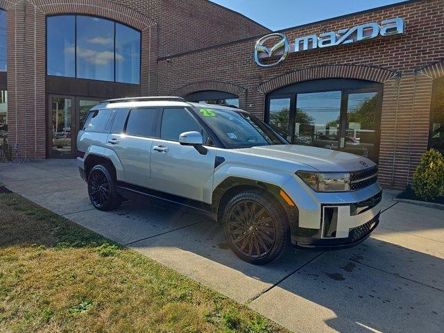
[[[164,109],[160,127],[161,139],[178,141],[181,133],[191,130],[202,133],[202,128],[187,110],[184,108]]]

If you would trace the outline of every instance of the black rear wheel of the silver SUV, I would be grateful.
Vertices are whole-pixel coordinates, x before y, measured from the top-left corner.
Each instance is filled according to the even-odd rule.
[[[95,165],[89,171],[88,195],[97,210],[115,210],[122,203],[122,197],[116,191],[114,178],[108,167],[103,164]]]

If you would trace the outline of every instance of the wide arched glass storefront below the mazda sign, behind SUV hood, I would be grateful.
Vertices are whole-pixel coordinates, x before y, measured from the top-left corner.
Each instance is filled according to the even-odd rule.
[[[266,96],[265,121],[292,144],[346,151],[379,160],[382,84],[328,78]]]

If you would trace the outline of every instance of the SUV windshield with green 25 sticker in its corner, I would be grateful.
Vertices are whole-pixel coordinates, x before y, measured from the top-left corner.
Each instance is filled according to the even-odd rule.
[[[227,148],[288,144],[262,121],[246,112],[200,107],[198,111]]]

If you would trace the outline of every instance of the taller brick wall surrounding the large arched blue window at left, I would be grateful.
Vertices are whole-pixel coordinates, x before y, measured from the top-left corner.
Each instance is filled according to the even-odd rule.
[[[0,0],[0,8],[8,20],[8,137],[18,144],[19,157],[27,159],[46,157],[51,130],[45,91],[46,15],[94,15],[141,31],[143,95],[158,92],[159,52],[218,44],[223,31],[228,40],[267,31],[207,0]]]

